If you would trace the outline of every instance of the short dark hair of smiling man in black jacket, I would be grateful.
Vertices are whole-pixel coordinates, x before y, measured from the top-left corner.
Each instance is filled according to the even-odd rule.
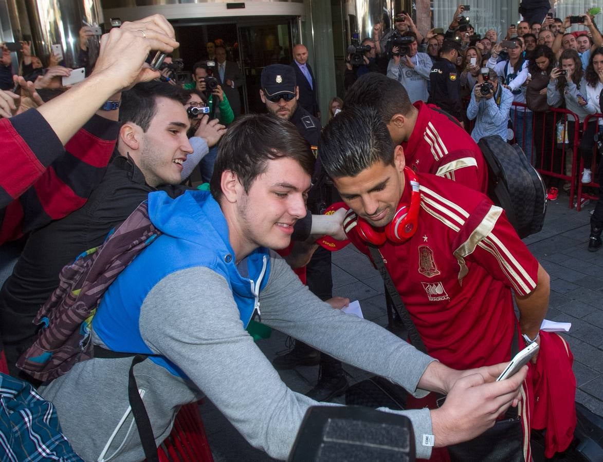
[[[157,98],[168,98],[185,104],[188,96],[180,87],[166,82],[144,82],[134,85],[121,95],[119,121],[136,123],[146,132],[157,113]]]

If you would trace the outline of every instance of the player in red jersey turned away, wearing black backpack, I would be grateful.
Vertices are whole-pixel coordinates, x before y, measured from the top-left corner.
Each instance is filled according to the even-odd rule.
[[[375,108],[402,145],[406,165],[419,173],[432,173],[480,192],[487,192],[488,169],[481,150],[452,116],[434,105],[411,104],[397,81],[371,72],[361,76],[346,93],[344,107]]]

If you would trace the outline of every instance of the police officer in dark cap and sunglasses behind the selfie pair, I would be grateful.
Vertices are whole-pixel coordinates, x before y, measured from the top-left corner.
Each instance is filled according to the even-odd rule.
[[[262,70],[260,84],[260,98],[268,112],[292,122],[301,136],[310,143],[312,151],[317,154],[318,136],[322,127],[316,117],[297,104],[299,88],[295,70],[284,64],[271,64]],[[317,214],[322,213],[327,205],[334,202],[332,198],[334,189],[326,183],[320,156],[317,157],[314,170],[314,178],[312,178],[314,186],[308,196],[308,208],[312,213]],[[314,252],[310,263],[306,266],[306,283],[308,288],[321,299],[327,300],[332,297],[331,252],[321,247]],[[312,366],[319,362],[321,367],[318,384],[308,392],[308,396],[316,401],[326,401],[342,395],[348,383],[341,362],[328,355],[321,355],[305,343],[295,342],[295,348],[285,355],[276,357],[273,366],[276,369],[294,369],[297,366]]]

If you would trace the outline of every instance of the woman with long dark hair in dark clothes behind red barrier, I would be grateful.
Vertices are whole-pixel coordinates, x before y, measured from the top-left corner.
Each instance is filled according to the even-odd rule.
[[[555,67],[555,53],[546,45],[538,45],[532,52],[532,59],[528,63],[530,78],[526,87],[526,104],[534,111],[534,147],[537,168],[550,170],[555,160],[554,143],[551,133],[554,133],[555,114],[549,112],[546,102],[546,87],[549,85],[549,75]],[[560,165],[554,168],[560,171]],[[556,197],[556,192],[549,191],[551,199]]]

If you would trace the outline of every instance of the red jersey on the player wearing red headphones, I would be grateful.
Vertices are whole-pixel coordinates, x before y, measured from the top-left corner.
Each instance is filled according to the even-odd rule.
[[[429,355],[455,369],[508,361],[517,319],[511,289],[527,295],[538,261],[504,211],[458,182],[418,174],[415,234],[379,248]],[[403,202],[409,203],[409,188]],[[368,255],[353,229],[350,240]]]

